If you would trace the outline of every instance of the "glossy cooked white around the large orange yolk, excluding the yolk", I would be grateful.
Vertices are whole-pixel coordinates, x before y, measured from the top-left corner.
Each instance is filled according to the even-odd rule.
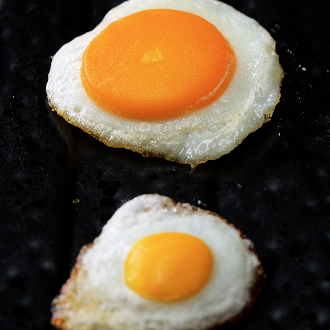
[[[215,103],[172,120],[128,120],[103,111],[81,85],[84,50],[111,22],[156,8],[190,12],[214,24],[236,54],[231,83]],[[275,41],[254,19],[233,7],[213,0],[129,0],[108,12],[94,30],[58,50],[46,92],[52,110],[106,145],[194,167],[230,152],[270,119],[281,96],[282,78]]]

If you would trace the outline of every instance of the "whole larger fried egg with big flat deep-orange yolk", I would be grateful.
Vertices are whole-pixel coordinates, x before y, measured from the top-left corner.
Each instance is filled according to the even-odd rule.
[[[210,0],[129,0],[53,57],[49,105],[105,144],[192,167],[272,116],[283,70],[255,20]]]

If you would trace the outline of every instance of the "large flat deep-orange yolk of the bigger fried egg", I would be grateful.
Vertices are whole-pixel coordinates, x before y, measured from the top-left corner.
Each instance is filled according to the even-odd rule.
[[[233,49],[204,18],[171,9],[118,19],[83,54],[81,81],[101,108],[138,120],[163,120],[218,98],[236,67]]]

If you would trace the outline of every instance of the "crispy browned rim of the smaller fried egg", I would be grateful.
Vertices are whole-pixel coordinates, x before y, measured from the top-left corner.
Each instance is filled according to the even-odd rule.
[[[238,228],[236,228],[233,224],[228,223],[227,219],[223,218],[221,215],[218,215],[215,212],[212,211],[208,211],[208,210],[203,210],[201,208],[198,208],[196,206],[187,204],[187,203],[176,203],[175,201],[173,201],[171,199],[171,201],[176,204],[177,207],[182,207],[182,208],[192,208],[193,210],[196,210],[198,212],[203,212],[203,213],[207,213],[210,215],[215,215],[216,217],[218,217],[220,220],[225,221],[228,225],[230,225],[231,227],[235,228],[240,236],[242,237],[242,239],[247,239],[247,237],[242,233],[242,231]],[[81,260],[82,260],[82,255],[84,253],[86,253],[86,251],[88,249],[90,249],[93,246],[93,243],[89,243],[87,245],[84,245],[77,257],[77,261],[75,266],[73,267],[71,273],[70,273],[70,277],[69,279],[65,282],[65,284],[63,284],[63,286],[61,287],[60,293],[59,295],[57,295],[53,301],[52,301],[52,317],[50,320],[50,323],[56,328],[56,329],[63,329],[63,330],[70,330],[70,328],[67,328],[66,326],[66,319],[64,319],[61,316],[61,310],[63,308],[66,308],[65,305],[67,304],[67,301],[69,299],[67,299],[69,296],[71,296],[71,292],[70,291],[74,291],[75,288],[75,281],[76,278],[78,277],[79,272],[81,271]],[[259,266],[256,269],[256,274],[255,274],[255,284],[254,286],[251,288],[250,291],[250,301],[247,303],[247,305],[245,306],[245,308],[242,310],[242,312],[236,316],[234,316],[233,318],[227,320],[225,323],[232,323],[235,321],[240,320],[241,318],[243,318],[244,316],[246,316],[249,311],[251,310],[257,296],[259,295],[259,293],[261,292],[264,284],[265,284],[265,272],[264,272],[264,268],[261,265],[261,260],[260,260],[260,255],[256,252],[255,248],[253,247],[253,245],[249,246],[249,250],[252,251],[258,258],[259,260]],[[62,307],[62,305],[64,305],[64,307]],[[215,324],[214,326],[211,327],[214,328],[216,326],[218,326],[219,324]],[[223,324],[221,324],[223,325]]]

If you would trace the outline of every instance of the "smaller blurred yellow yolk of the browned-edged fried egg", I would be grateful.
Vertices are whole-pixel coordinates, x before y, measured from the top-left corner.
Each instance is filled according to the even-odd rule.
[[[202,240],[165,232],[134,244],[125,261],[125,281],[145,298],[175,302],[197,293],[209,280],[212,266],[212,252]]]

